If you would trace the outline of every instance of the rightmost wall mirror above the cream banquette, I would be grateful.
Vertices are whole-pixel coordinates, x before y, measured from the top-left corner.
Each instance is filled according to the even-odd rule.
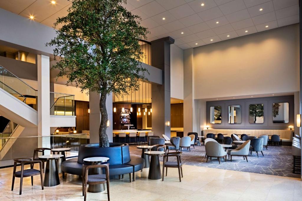
[[[273,123],[289,122],[289,103],[273,103]]]

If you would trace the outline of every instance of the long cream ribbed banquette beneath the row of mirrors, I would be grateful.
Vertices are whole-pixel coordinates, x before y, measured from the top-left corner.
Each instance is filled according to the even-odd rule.
[[[247,130],[247,129],[204,129],[203,134],[204,136],[207,135],[207,133],[223,133],[227,134],[226,136],[231,137],[231,134],[235,133],[237,135],[239,134],[250,134],[251,136],[258,137],[260,135],[280,135],[280,139],[282,142],[291,142],[293,131],[292,130]]]

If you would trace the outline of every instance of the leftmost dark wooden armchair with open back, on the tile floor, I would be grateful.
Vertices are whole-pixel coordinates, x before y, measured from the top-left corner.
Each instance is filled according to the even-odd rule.
[[[21,164],[21,171],[16,172],[17,168],[17,163]],[[34,163],[39,163],[40,164],[40,170],[34,169]],[[24,165],[31,165],[30,169],[24,169]],[[23,183],[23,177],[31,177],[31,185],[34,185],[33,182],[33,176],[40,174],[41,176],[41,186],[42,190],[44,190],[43,186],[43,173],[42,173],[42,161],[32,161],[31,159],[14,159],[14,171],[13,171],[13,181],[11,184],[11,190],[14,190],[14,182],[15,182],[15,177],[20,177],[20,193],[22,193],[22,183]]]

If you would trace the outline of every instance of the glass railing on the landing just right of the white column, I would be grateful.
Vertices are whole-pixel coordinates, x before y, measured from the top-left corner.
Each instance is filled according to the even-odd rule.
[[[75,101],[72,94],[50,92],[50,115],[75,115]]]

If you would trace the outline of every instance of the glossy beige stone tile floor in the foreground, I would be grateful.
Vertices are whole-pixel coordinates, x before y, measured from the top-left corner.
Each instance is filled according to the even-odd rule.
[[[19,167],[20,168],[20,167]],[[40,177],[24,178],[22,195],[20,179],[11,191],[13,168],[0,169],[0,200],[83,200],[81,180],[70,175],[55,187],[41,190]],[[176,168],[168,169],[165,181],[148,180],[148,169],[137,172],[137,180],[111,180],[111,200],[302,200],[302,182],[298,178],[183,165],[184,177],[178,180]],[[106,192],[106,191],[104,191]],[[88,193],[87,200],[107,200],[106,193]]]

